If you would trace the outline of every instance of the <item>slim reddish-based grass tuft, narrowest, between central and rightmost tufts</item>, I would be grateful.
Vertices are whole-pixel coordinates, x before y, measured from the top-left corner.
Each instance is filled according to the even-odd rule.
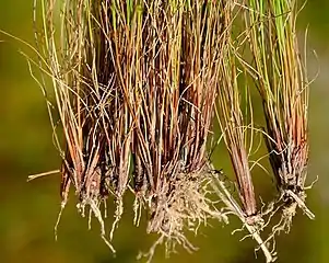
[[[248,132],[251,130],[252,133],[252,128],[246,128],[248,126],[245,119],[247,113],[242,105],[242,94],[246,93],[247,104],[249,104],[249,95],[247,85],[242,87],[238,83],[238,78],[242,78],[242,73],[237,69],[234,45],[236,44],[233,43],[231,35],[228,35],[221,67],[218,118],[236,175],[243,209],[246,217],[251,218],[257,215],[257,207],[248,160],[248,141],[246,139]],[[250,113],[252,113],[251,111]]]

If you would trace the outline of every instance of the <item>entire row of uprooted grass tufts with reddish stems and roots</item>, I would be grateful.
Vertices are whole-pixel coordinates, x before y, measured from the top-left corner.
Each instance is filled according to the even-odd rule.
[[[274,261],[271,241],[290,230],[296,209],[314,218],[305,205],[309,82],[297,8],[294,0],[35,0],[62,209],[73,191],[115,252],[122,199],[132,193],[133,222],[144,214],[146,231],[158,235],[149,261],[162,243],[167,253],[176,244],[193,251],[187,231],[235,215]],[[265,122],[254,118],[255,100]],[[256,137],[268,152],[254,161]],[[235,178],[214,169],[224,161],[211,158],[219,144]],[[259,204],[252,169],[263,161],[278,194]],[[108,202],[113,226],[104,222]]]

